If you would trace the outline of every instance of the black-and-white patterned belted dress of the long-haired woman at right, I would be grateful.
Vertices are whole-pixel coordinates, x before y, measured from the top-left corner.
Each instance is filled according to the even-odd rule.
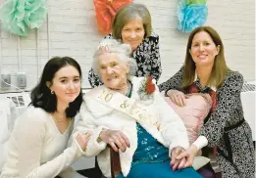
[[[237,71],[229,71],[223,85],[213,92],[202,88],[198,79],[187,89],[181,89],[183,67],[166,82],[160,91],[170,89],[184,93],[209,93],[215,106],[200,130],[209,147],[217,147],[217,160],[223,178],[255,178],[255,150],[251,128],[244,120],[240,93],[243,77]]]

